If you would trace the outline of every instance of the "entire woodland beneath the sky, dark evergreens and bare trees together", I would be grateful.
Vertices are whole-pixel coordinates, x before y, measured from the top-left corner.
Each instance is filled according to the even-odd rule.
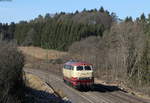
[[[98,78],[125,82],[150,95],[150,15],[120,20],[103,7],[39,15],[0,23],[0,40],[68,51],[93,63]]]

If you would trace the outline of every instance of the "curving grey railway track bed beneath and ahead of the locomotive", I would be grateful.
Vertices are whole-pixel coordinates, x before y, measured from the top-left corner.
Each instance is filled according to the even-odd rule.
[[[111,90],[105,86],[97,86],[93,91],[78,91],[63,83],[60,76],[48,71],[24,69],[39,76],[45,82],[51,84],[52,87],[63,91],[72,103],[150,103],[145,100],[120,90]]]

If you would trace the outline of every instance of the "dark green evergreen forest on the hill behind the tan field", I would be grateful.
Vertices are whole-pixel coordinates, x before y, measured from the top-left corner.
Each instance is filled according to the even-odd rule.
[[[75,41],[89,36],[102,36],[115,21],[115,13],[101,7],[75,13],[39,15],[29,22],[0,24],[0,39],[15,40],[19,45],[67,50]]]

